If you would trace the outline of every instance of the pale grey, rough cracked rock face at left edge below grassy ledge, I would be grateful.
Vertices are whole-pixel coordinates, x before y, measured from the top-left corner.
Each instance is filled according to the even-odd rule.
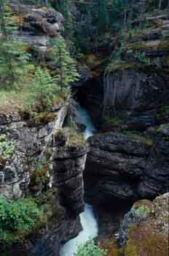
[[[54,127],[62,127],[67,110],[68,106],[55,109],[50,113],[49,122],[38,125],[12,113],[0,116],[0,134],[9,143],[8,150],[13,147],[10,156],[3,155],[3,152],[0,156],[1,198],[16,199],[28,192],[31,173],[34,173],[48,136]]]

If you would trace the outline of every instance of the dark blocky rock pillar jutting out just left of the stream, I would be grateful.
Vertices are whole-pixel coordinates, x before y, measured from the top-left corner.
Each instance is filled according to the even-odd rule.
[[[52,154],[53,184],[58,187],[60,203],[74,214],[84,210],[83,170],[87,151],[87,146],[58,147]]]

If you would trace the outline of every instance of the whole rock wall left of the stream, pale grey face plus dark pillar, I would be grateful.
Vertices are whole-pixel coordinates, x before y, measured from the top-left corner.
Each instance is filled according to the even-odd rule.
[[[28,244],[12,246],[9,256],[14,252],[18,255],[24,252],[30,256],[58,256],[61,244],[76,236],[82,229],[79,213],[84,210],[83,170],[88,147],[86,143],[67,145],[68,137],[64,145],[58,145],[55,132],[62,131],[60,128],[67,113],[68,105],[55,108],[54,112],[45,113],[43,121],[46,123],[43,124],[35,124],[34,119],[24,119],[19,115],[0,118],[1,135],[5,135],[0,137],[0,143],[5,140],[5,143],[12,142],[11,145],[14,145],[11,157],[6,159],[1,152],[0,197],[18,199],[25,195],[39,195],[45,202],[47,200],[47,207],[50,207],[44,227],[35,230],[27,238]],[[50,152],[47,152],[49,149]],[[39,173],[39,169],[36,169],[42,154],[50,154],[47,162],[42,163],[42,173],[44,166],[47,168],[45,177],[41,176],[41,170]],[[40,180],[34,179],[36,173],[39,173]],[[56,192],[51,189],[56,189]],[[50,191],[53,193],[52,197]]]

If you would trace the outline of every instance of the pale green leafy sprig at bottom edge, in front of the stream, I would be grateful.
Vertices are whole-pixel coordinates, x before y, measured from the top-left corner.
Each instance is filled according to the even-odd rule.
[[[86,244],[80,244],[77,248],[75,256],[104,256],[106,251],[95,245],[93,239],[87,241]]]

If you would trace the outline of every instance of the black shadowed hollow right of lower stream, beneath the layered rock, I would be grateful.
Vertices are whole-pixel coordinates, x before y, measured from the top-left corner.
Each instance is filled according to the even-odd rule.
[[[93,167],[94,168],[94,167]],[[100,200],[93,193],[95,178],[87,175],[84,171],[84,195],[85,200],[93,206],[95,217],[98,219],[98,241],[111,238],[119,230],[119,223],[127,211],[130,210],[132,203],[122,200]],[[93,183],[94,182],[94,183]]]

